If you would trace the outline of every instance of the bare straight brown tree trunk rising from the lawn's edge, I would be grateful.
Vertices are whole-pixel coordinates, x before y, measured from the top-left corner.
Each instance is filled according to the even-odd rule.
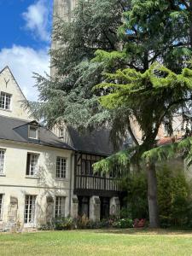
[[[157,202],[157,177],[154,164],[148,164],[147,172],[149,227],[156,229],[159,228],[159,211]]]

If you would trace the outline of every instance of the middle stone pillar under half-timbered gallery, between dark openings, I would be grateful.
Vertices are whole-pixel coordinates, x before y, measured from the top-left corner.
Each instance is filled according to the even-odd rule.
[[[99,196],[90,197],[90,219],[93,221],[100,220],[101,201]]]

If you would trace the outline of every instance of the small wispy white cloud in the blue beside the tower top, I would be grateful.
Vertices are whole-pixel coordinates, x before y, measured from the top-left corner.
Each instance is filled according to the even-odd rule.
[[[22,14],[26,20],[26,29],[31,31],[35,38],[40,38],[45,42],[50,39],[50,10],[49,0],[38,0]]]

